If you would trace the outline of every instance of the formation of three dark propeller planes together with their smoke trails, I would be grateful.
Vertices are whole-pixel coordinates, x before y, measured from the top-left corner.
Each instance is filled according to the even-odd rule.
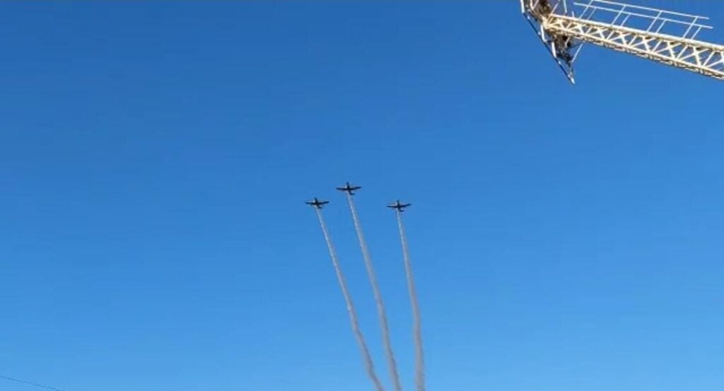
[[[374,299],[377,307],[377,315],[379,317],[379,326],[382,332],[382,344],[384,348],[385,357],[387,358],[387,367],[390,372],[390,379],[392,380],[392,385],[395,391],[402,391],[402,384],[400,382],[400,375],[397,373],[397,361],[395,361],[395,353],[392,349],[392,342],[390,340],[390,327],[387,322],[387,313],[384,308],[384,301],[382,300],[382,293],[379,288],[379,285],[377,284],[377,278],[376,274],[374,272],[374,266],[372,264],[372,259],[369,253],[369,248],[367,247],[366,240],[364,239],[363,231],[361,222],[359,219],[359,214],[357,212],[357,207],[354,203],[354,195],[357,190],[361,189],[361,186],[355,186],[352,185],[350,182],[346,182],[345,185],[342,185],[340,187],[336,188],[342,193],[345,193],[345,196],[347,198],[347,201],[350,206],[350,212],[352,214],[353,223],[355,226],[355,232],[357,234],[360,249],[362,252],[363,260],[365,263],[366,271],[367,271],[367,277],[369,277],[369,282],[371,285],[372,293],[374,294]],[[367,376],[369,377],[370,381],[375,387],[376,391],[384,391],[384,385],[382,385],[382,382],[380,381],[379,377],[377,377],[375,368],[374,368],[374,361],[371,357],[371,354],[369,353],[369,348],[367,347],[366,340],[364,338],[364,335],[361,331],[358,319],[357,319],[357,311],[355,309],[352,295],[350,294],[345,274],[342,272],[342,267],[340,265],[339,258],[337,256],[337,251],[334,249],[334,244],[332,243],[332,237],[329,235],[329,230],[327,229],[327,223],[324,221],[324,216],[322,214],[322,209],[325,205],[327,205],[329,201],[322,201],[319,198],[312,198],[311,201],[306,201],[306,204],[309,206],[312,206],[314,211],[316,211],[317,218],[319,219],[319,224],[321,227],[322,234],[324,235],[324,240],[327,243],[327,250],[329,251],[329,256],[332,258],[332,266],[334,266],[334,272],[337,274],[337,282],[340,285],[340,290],[342,290],[342,296],[345,299],[345,304],[347,306],[348,315],[350,316],[350,322],[352,324],[352,331],[353,335],[355,336],[355,339],[357,340],[358,347],[360,349],[360,352],[362,354],[363,363],[366,369]],[[400,230],[400,243],[402,244],[403,248],[403,265],[405,269],[405,278],[407,279],[407,285],[408,285],[408,295],[410,296],[411,300],[411,306],[412,306],[412,314],[413,314],[413,342],[415,346],[415,384],[416,384],[416,390],[417,391],[424,391],[425,390],[425,368],[424,368],[424,350],[423,350],[423,343],[422,343],[422,331],[421,331],[421,316],[420,316],[420,309],[418,305],[418,299],[417,299],[417,293],[416,293],[416,287],[415,287],[415,279],[413,277],[412,272],[412,265],[410,260],[410,251],[408,249],[408,242],[407,237],[405,235],[405,227],[403,225],[402,220],[402,213],[405,211],[406,208],[411,206],[411,203],[402,203],[400,200],[397,200],[393,203],[390,203],[387,205],[387,208],[395,209],[395,216],[397,216],[397,226]]]

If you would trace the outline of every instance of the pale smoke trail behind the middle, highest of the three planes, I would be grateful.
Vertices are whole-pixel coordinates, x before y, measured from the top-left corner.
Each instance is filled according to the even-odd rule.
[[[392,384],[395,386],[396,391],[402,391],[403,387],[402,384],[400,384],[400,375],[397,374],[395,352],[392,350],[392,342],[390,341],[390,327],[387,325],[387,314],[384,311],[384,301],[382,300],[382,293],[380,293],[379,291],[377,277],[374,274],[374,267],[372,266],[372,258],[369,255],[367,242],[364,239],[364,235],[362,234],[362,226],[360,224],[359,216],[357,215],[357,208],[355,207],[355,202],[350,193],[347,193],[347,201],[350,203],[350,211],[352,211],[352,219],[355,224],[355,231],[357,231],[357,238],[359,239],[360,248],[362,249],[362,257],[364,258],[364,264],[367,269],[367,276],[369,277],[369,282],[372,285],[374,300],[377,303],[379,325],[382,328],[382,343],[384,344],[384,353],[387,356],[387,365],[390,366],[390,377],[392,378]]]

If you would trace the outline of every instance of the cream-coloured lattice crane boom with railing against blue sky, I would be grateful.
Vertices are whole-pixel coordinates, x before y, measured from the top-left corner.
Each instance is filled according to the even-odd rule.
[[[724,46],[697,40],[708,17],[607,0],[521,0],[521,9],[571,83],[583,43],[724,80]]]

